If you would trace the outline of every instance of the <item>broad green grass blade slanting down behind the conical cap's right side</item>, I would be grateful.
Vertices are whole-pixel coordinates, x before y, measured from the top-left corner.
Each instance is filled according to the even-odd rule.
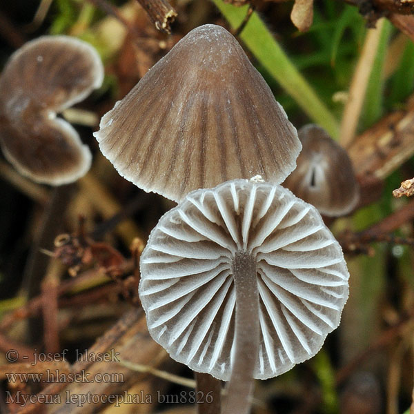
[[[237,8],[222,0],[212,1],[233,28],[237,28],[242,23],[248,10],[247,7]],[[256,12],[250,16],[240,38],[270,75],[295,99],[308,117],[325,128],[336,139],[339,134],[337,120],[297,71]]]

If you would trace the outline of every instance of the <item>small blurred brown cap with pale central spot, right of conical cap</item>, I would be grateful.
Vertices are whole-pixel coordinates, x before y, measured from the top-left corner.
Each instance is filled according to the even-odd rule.
[[[299,130],[299,139],[297,168],[283,185],[326,216],[350,213],[359,201],[359,186],[346,150],[313,124]]]

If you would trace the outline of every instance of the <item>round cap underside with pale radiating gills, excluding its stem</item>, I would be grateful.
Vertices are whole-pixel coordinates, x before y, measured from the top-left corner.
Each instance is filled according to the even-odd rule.
[[[228,380],[237,252],[253,256],[259,290],[255,378],[315,355],[348,297],[342,249],[315,207],[282,186],[237,179],[195,190],[152,230],[139,295],[150,335],[194,371]]]

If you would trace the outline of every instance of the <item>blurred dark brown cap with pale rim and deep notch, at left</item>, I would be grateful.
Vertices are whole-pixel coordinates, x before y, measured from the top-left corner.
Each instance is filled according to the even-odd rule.
[[[90,150],[56,112],[83,100],[102,81],[97,51],[79,39],[43,36],[17,50],[0,77],[0,145],[8,161],[46,184],[85,175]]]

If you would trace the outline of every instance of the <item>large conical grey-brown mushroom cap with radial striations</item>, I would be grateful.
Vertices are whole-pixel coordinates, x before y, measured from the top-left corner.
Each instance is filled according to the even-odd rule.
[[[228,179],[279,184],[301,149],[237,40],[211,24],[181,39],[94,135],[120,175],[175,201]]]

